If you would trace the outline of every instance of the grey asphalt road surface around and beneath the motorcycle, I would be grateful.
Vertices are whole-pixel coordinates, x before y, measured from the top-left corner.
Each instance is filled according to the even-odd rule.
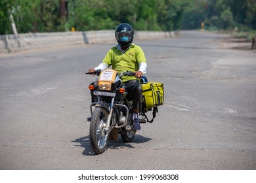
[[[113,44],[0,55],[0,169],[256,169],[256,54],[228,37],[182,31],[135,41],[164,105],[131,143],[89,143],[85,75]]]

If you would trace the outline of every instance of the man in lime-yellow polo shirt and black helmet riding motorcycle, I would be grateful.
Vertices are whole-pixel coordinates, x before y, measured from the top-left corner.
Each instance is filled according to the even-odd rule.
[[[88,73],[92,73],[98,69],[104,70],[112,66],[112,69],[117,73],[123,71],[133,71],[134,76],[123,76],[122,82],[125,84],[127,91],[133,99],[133,128],[140,130],[139,124],[139,112],[142,109],[142,87],[138,78],[146,74],[146,58],[144,52],[140,46],[133,44],[133,27],[129,24],[119,24],[115,31],[117,46],[112,47],[102,63],[95,67],[95,69],[89,69]],[[91,91],[92,102],[95,101],[93,91]],[[91,120],[88,118],[88,120]]]

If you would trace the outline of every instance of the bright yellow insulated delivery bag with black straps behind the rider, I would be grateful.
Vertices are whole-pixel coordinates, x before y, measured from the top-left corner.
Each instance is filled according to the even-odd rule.
[[[147,82],[141,84],[142,86],[142,103],[144,108],[152,108],[163,105],[163,84],[160,82]]]

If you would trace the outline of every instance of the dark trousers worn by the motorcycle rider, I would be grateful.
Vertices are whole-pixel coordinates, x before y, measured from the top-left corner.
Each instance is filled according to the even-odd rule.
[[[91,84],[96,84],[96,82],[92,82]],[[139,80],[129,80],[124,82],[124,84],[129,93],[129,97],[133,99],[133,109],[138,109],[139,112],[141,112],[142,87]],[[97,101],[97,97],[93,95],[93,90],[91,90],[91,101],[92,103]]]

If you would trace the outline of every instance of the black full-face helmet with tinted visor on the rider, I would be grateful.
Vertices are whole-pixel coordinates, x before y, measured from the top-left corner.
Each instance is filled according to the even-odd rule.
[[[116,41],[118,42],[118,44],[120,44],[121,46],[123,45],[131,45],[131,43],[133,43],[133,35],[134,35],[134,31],[133,31],[133,27],[131,27],[131,25],[129,24],[119,24],[116,27]]]

